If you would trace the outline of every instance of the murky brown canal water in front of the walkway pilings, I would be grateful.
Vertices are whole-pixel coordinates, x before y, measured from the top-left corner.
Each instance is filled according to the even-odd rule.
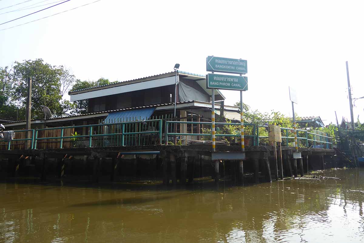
[[[364,242],[364,170],[237,187],[0,184],[0,242]]]

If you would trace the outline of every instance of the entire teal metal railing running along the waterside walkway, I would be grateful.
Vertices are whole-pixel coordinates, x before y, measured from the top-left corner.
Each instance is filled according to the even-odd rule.
[[[169,127],[176,126],[177,124],[197,124],[197,125],[206,125],[211,126],[211,122],[182,122],[182,121],[169,121],[166,120],[165,122],[165,144],[168,144],[169,137],[171,136],[211,136],[211,133],[208,134],[200,134],[200,133],[181,133],[181,132],[173,132],[174,129],[169,129]],[[175,125],[174,125],[175,124]],[[216,122],[216,126],[220,125],[232,125],[232,126],[240,126],[240,123],[221,123]],[[108,131],[104,133],[105,130],[102,131],[100,127],[106,126],[108,127]],[[105,138],[106,136],[110,136],[109,138],[112,140],[114,139],[114,145],[116,146],[132,146],[132,145],[146,145],[146,138],[145,136],[155,134],[153,138],[155,142],[162,144],[162,126],[163,120],[162,119],[152,119],[152,120],[145,120],[145,121],[129,121],[129,122],[117,122],[117,123],[104,123],[104,124],[92,124],[92,125],[83,125],[83,126],[69,126],[69,127],[52,127],[52,128],[41,128],[41,129],[31,129],[31,130],[17,130],[17,132],[31,132],[32,138],[25,138],[25,139],[14,139],[12,141],[31,141],[31,149],[37,148],[37,142],[39,140],[50,140],[50,139],[59,139],[59,148],[63,148],[63,139],[72,139],[72,138],[88,138],[88,146],[85,147],[92,147],[92,139],[94,138],[94,147],[97,147],[95,139],[96,138]],[[246,138],[252,138],[252,145],[259,146],[260,139],[268,138],[268,136],[260,136],[259,129],[266,129],[268,126],[261,126],[253,123],[244,123],[244,127],[251,126],[252,134],[245,134]],[[87,128],[88,132],[86,135],[78,135],[78,136],[63,136],[64,130],[68,128]],[[112,128],[112,129],[111,129]],[[40,131],[45,130],[60,130],[60,136],[56,137],[39,137]],[[147,130],[147,131],[145,131]],[[101,133],[103,132],[103,133]],[[289,136],[289,133],[292,134],[293,128],[286,128],[281,127],[282,132],[282,144],[289,146],[289,140],[294,141],[293,136]],[[93,134],[94,133],[94,134]],[[216,136],[224,136],[224,137],[238,137],[240,138],[240,130],[237,130],[237,134],[215,134]],[[301,135],[301,136],[300,136]],[[144,138],[143,138],[144,136]],[[153,135],[154,136],[154,135]],[[310,138],[312,137],[312,139]],[[309,147],[309,142],[312,142],[313,146],[316,144],[320,144],[321,147],[325,146],[325,148],[332,148],[333,144],[331,141],[331,137],[324,136],[320,134],[315,134],[306,130],[297,129],[297,139],[298,141],[303,140],[305,147]],[[7,149],[10,150],[11,142],[8,142]],[[100,147],[107,147],[105,144],[104,139],[99,141]],[[149,144],[149,143],[148,143]],[[6,144],[4,144],[6,145]],[[298,143],[298,146],[300,143]],[[302,143],[301,143],[302,147]]]

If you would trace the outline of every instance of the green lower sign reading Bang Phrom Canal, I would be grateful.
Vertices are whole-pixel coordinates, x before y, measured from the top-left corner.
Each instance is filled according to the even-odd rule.
[[[206,80],[210,89],[248,90],[248,77],[244,76],[208,73]]]

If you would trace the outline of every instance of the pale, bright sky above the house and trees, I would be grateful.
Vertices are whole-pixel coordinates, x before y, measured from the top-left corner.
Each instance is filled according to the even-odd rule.
[[[0,0],[0,23],[65,0],[24,1]],[[329,124],[335,111],[339,122],[350,120],[348,61],[352,96],[364,96],[363,1],[95,1],[70,0],[0,24],[0,66],[41,58],[81,80],[126,81],[173,71],[175,63],[206,74],[207,56],[241,58],[248,61],[244,103],[292,115],[292,86],[295,112]],[[238,91],[222,93],[227,105],[240,100]],[[355,101],[355,121],[364,121],[363,108],[364,99]]]

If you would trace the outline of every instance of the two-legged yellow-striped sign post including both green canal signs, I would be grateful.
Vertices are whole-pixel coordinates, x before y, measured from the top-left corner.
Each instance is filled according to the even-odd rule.
[[[218,159],[222,160],[240,160],[239,174],[240,180],[243,180],[243,159],[245,159],[245,144],[244,144],[244,113],[243,113],[243,91],[248,90],[248,77],[242,76],[246,74],[246,60],[231,59],[225,57],[208,56],[206,58],[206,71],[210,71],[206,75],[206,87],[212,91],[212,113],[211,113],[211,138],[212,138],[212,158],[215,164],[215,182],[218,182],[219,163]],[[236,73],[237,75],[223,75],[214,72]],[[215,89],[227,89],[240,91],[240,138],[241,138],[241,153],[233,155],[225,152],[216,152],[216,135],[215,135]]]

